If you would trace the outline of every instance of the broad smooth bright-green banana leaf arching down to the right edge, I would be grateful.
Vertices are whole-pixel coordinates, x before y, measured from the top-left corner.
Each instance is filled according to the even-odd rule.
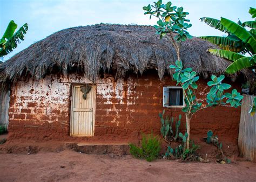
[[[241,39],[242,42],[246,44],[248,50],[250,50],[253,54],[256,52],[256,40],[249,31],[226,18],[221,18],[220,22],[226,27],[226,29],[228,29],[228,31]]]

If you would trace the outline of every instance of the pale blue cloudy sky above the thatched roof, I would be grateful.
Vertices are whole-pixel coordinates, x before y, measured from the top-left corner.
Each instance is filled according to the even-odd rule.
[[[157,1],[157,0],[155,0]],[[143,6],[154,0],[0,0],[0,37],[14,20],[21,27],[28,23],[25,40],[10,54],[13,55],[59,30],[74,26],[99,23],[155,25],[157,20],[144,15]],[[166,3],[168,1],[163,1]],[[256,0],[177,0],[173,5],[183,6],[191,20],[192,36],[225,36],[225,33],[200,22],[200,17],[225,17],[238,22],[252,20],[248,10],[255,8]]]

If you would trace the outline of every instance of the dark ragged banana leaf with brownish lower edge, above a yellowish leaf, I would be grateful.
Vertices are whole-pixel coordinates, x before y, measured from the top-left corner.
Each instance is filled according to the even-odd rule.
[[[238,41],[228,37],[219,37],[219,36],[204,36],[199,37],[201,39],[210,41],[210,43],[218,45],[223,50],[232,51],[232,52],[241,52],[244,50],[241,41]]]

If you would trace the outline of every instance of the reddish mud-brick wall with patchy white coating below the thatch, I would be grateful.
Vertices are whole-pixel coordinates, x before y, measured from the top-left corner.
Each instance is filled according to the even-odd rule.
[[[140,132],[159,134],[158,114],[185,115],[181,108],[163,107],[163,86],[175,85],[170,78],[159,81],[156,73],[114,80],[105,75],[97,80],[95,136],[70,137],[71,83],[90,83],[81,76],[51,75],[39,81],[20,81],[12,86],[9,108],[10,139],[65,141],[122,141],[138,139]],[[199,80],[197,96],[205,98],[206,80]],[[237,87],[234,83],[233,87]],[[194,115],[191,134],[203,137],[208,130],[228,141],[238,137],[240,108],[215,107]]]

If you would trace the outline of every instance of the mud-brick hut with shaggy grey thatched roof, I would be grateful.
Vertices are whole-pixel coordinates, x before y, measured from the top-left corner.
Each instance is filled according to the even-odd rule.
[[[184,67],[200,75],[199,98],[209,91],[211,74],[230,65],[207,52],[213,47],[199,38],[181,44]],[[159,133],[159,112],[183,114],[183,93],[169,69],[175,61],[167,37],[160,40],[151,26],[100,24],[53,33],[0,65],[0,81],[10,88],[9,138],[128,142],[140,132]],[[246,73],[230,76],[226,82],[240,90]],[[211,129],[234,141],[239,119],[240,108],[200,111],[191,121],[192,137]]]

